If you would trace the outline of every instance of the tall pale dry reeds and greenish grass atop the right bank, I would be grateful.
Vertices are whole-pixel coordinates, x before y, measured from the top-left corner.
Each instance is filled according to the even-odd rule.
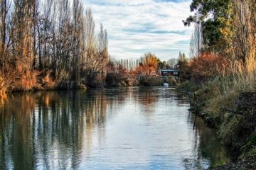
[[[235,98],[241,92],[256,90],[256,59],[247,57],[245,64],[241,61],[229,61],[228,67],[221,69],[218,75],[203,84],[198,94],[206,99],[206,112],[219,115],[220,107],[235,107]]]

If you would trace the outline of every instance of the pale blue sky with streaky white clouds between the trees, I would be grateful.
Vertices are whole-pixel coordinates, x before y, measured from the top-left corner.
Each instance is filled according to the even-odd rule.
[[[136,59],[153,52],[161,60],[188,56],[193,27],[182,20],[192,13],[191,0],[83,0],[92,8],[96,32],[107,29],[112,58]]]

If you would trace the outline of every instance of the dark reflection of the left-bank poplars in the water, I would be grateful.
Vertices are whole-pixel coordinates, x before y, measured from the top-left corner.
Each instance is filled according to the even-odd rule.
[[[75,168],[82,147],[90,154],[92,131],[105,126],[106,108],[103,92],[10,96],[0,109],[0,169]]]

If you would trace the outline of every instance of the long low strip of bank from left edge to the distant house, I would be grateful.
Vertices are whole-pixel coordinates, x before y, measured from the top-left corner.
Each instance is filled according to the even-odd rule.
[[[137,74],[107,73],[104,79],[56,79],[51,72],[26,72],[26,74],[6,73],[0,75],[0,96],[6,97],[10,92],[23,91],[55,91],[60,89],[87,89],[87,88],[113,88],[122,86],[162,86],[168,83],[171,86],[179,84],[177,77],[161,77],[159,75],[147,76]]]

